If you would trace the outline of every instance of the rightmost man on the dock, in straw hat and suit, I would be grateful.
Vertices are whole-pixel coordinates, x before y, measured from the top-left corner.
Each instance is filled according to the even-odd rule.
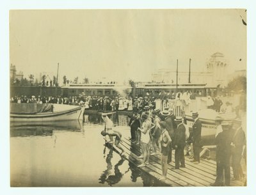
[[[231,151],[234,178],[232,180],[243,180],[244,178],[243,169],[241,167],[241,159],[246,146],[246,138],[241,125],[242,121],[239,118],[236,118],[233,121],[234,136],[232,136]]]

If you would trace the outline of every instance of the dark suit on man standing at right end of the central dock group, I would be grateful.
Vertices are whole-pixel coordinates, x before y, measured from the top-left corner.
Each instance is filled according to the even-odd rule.
[[[202,131],[202,123],[199,119],[195,121],[193,124],[193,150],[194,150],[194,159],[200,162],[200,150],[201,150],[201,131]]]

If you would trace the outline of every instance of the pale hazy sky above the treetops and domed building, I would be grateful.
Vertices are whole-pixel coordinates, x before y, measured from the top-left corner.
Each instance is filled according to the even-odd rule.
[[[90,81],[151,81],[158,68],[205,70],[215,52],[246,69],[245,10],[11,10],[10,64],[17,71]],[[240,60],[241,59],[241,60]]]

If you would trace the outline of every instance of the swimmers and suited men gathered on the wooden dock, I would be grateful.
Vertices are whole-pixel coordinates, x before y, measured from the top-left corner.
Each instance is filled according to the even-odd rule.
[[[122,134],[112,130],[113,123],[109,118],[106,121],[106,133],[103,136],[115,136],[116,146],[122,150],[120,140]],[[185,155],[189,155],[190,161],[200,164],[200,152],[202,151],[202,122],[197,112],[192,114],[193,125],[188,127],[186,118],[176,117],[172,109],[159,109],[150,111],[146,105],[143,109],[134,109],[132,116],[129,116],[131,127],[131,143],[141,146],[143,159],[138,167],[150,164],[150,155],[161,155],[162,176],[159,180],[166,180],[168,163],[172,162],[172,150],[175,150],[175,166],[173,169],[186,168]],[[112,124],[112,125],[109,125]],[[246,155],[246,139],[241,127],[241,120],[236,118],[233,121],[225,121],[223,118],[216,118],[216,182],[212,186],[230,185],[230,159],[234,170],[232,180],[243,180],[243,169],[241,159]],[[224,172],[223,172],[224,171]]]

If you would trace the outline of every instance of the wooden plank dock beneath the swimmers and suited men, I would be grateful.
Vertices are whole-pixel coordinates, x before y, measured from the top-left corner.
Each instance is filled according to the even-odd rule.
[[[131,143],[129,139],[123,138],[120,143],[125,150],[124,158],[129,160],[135,166],[141,164],[142,159],[138,159],[141,155],[140,145]],[[115,148],[115,146],[113,146]],[[116,148],[115,148],[116,149]],[[116,149],[118,150],[118,149]],[[185,157],[186,168],[172,169],[175,166],[174,150],[172,153],[172,162],[168,164],[167,179],[163,180],[163,183],[173,187],[189,187],[189,186],[211,186],[211,183],[215,182],[216,178],[216,162],[214,160],[200,159],[199,164],[190,162],[188,157]],[[162,174],[161,169],[161,156],[150,155],[149,165],[140,168],[142,171],[147,172],[149,175],[155,178],[160,178]],[[231,168],[231,178],[233,178],[233,171]],[[231,186],[243,186],[244,182],[231,181]]]

